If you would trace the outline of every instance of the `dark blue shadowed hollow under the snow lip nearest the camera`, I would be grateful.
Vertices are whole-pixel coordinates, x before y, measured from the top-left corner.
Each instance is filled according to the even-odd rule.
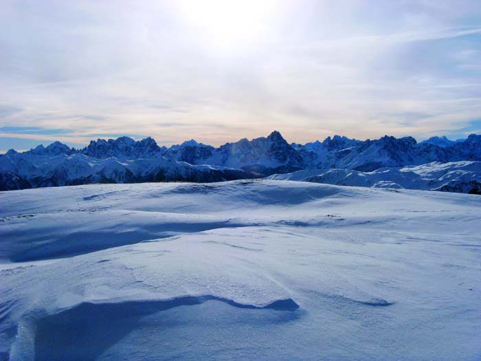
[[[102,355],[112,344],[120,342],[126,334],[131,333],[135,322],[140,322],[142,318],[174,307],[201,305],[212,300],[240,309],[295,311],[299,308],[291,299],[256,306],[210,295],[186,296],[161,301],[82,303],[38,321],[35,360],[60,361],[73,358],[93,360]],[[279,317],[280,320],[286,318],[284,315]],[[115,330],[112,330],[112,320],[115,320],[115,326],[117,326]],[[85,347],[86,344],[91,347]]]

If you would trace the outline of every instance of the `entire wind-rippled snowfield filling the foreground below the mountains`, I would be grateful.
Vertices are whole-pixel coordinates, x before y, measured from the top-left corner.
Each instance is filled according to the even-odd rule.
[[[0,360],[479,360],[477,195],[0,193]]]

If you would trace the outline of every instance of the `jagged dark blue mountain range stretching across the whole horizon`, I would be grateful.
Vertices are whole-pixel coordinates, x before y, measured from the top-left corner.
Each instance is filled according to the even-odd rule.
[[[11,149],[0,155],[0,190],[91,183],[221,182],[301,170],[319,176],[333,168],[346,174],[379,173],[381,168],[465,161],[481,161],[481,135],[457,141],[433,137],[419,143],[412,137],[385,135],[362,141],[335,135],[322,142],[289,144],[273,131],[267,137],[244,138],[219,147],[188,140],[169,148],[153,138],[121,137],[92,140],[83,149],[60,142],[23,153]],[[456,172],[463,171],[457,168]],[[475,182],[471,188],[477,189],[479,179],[471,180]],[[469,193],[469,182],[460,191]],[[456,190],[456,184],[449,187]]]

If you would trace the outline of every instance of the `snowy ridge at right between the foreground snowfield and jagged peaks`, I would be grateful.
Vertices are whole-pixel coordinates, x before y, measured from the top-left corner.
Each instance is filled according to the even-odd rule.
[[[421,166],[379,168],[372,172],[350,169],[303,170],[267,177],[338,186],[443,190],[481,194],[481,162],[432,162]]]

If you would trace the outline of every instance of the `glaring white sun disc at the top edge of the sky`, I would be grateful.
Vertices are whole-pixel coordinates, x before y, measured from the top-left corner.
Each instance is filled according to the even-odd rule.
[[[265,39],[276,9],[270,0],[183,0],[179,10],[211,45],[234,48]]]

